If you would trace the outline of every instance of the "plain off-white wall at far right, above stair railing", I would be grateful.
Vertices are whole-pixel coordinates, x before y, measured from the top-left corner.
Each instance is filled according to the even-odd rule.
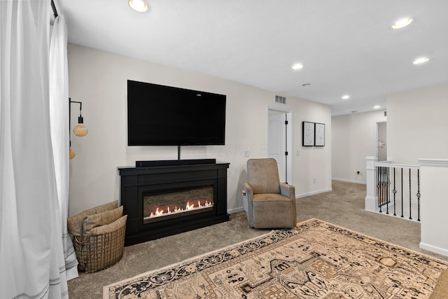
[[[387,96],[387,153],[395,163],[448,157],[448,83]]]

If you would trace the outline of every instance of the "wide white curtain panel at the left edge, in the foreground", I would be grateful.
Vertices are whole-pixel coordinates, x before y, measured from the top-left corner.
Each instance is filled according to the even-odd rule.
[[[50,0],[0,1],[1,298],[68,298],[50,137]]]

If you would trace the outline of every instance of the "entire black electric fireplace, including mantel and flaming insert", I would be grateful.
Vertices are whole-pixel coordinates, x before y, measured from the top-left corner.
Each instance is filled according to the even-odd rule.
[[[143,166],[118,168],[126,246],[229,220],[229,163],[207,159],[136,165]]]

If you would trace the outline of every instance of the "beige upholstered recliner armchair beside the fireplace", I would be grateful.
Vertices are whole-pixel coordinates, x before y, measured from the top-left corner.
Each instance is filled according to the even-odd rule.
[[[247,161],[248,183],[244,183],[246,213],[251,228],[293,228],[295,187],[280,183],[277,162],[272,158]]]

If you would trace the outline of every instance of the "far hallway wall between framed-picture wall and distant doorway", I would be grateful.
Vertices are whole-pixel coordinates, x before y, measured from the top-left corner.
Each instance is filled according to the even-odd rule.
[[[366,183],[365,157],[375,155],[376,125],[385,120],[384,111],[331,118],[332,179]]]

